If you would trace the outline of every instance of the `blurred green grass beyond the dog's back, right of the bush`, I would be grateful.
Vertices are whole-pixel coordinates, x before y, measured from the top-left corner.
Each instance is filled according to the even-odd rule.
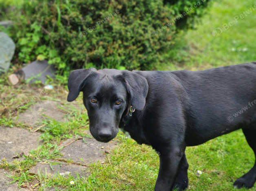
[[[217,0],[204,15],[196,30],[181,31],[174,48],[164,55],[170,63],[163,63],[159,70],[208,69],[256,61],[256,9],[254,0]],[[244,19],[234,17],[252,10]],[[224,31],[223,25],[234,25]],[[223,33],[214,36],[213,31],[222,28]],[[217,29],[219,30],[219,29]]]

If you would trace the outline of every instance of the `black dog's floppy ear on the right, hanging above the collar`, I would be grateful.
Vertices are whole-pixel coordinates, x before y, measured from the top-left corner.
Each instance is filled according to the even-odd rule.
[[[143,76],[130,71],[123,71],[122,78],[125,81],[130,95],[130,103],[137,110],[143,110],[148,94],[148,81]]]

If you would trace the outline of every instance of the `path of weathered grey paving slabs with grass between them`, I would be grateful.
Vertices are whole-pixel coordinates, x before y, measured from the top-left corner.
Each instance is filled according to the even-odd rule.
[[[58,104],[58,102],[49,100],[35,104],[23,113],[20,113],[16,122],[22,122],[35,129],[39,126],[38,123],[44,119],[44,115],[51,116],[57,121],[67,120],[67,113],[63,112]],[[42,140],[40,140],[41,134],[38,132],[5,126],[0,126],[0,132],[2,134],[0,139],[0,160],[4,159],[8,163],[12,163],[13,160],[24,160],[23,154],[29,155],[29,151],[35,150],[42,144]],[[110,141],[109,143],[98,142],[93,139],[88,130],[85,130],[85,132],[91,138],[85,137],[84,140],[80,138],[63,141],[59,145],[59,148],[63,147],[60,152],[62,154],[61,158],[49,160],[47,163],[38,162],[29,169],[30,173],[42,173],[49,176],[57,173],[61,173],[63,176],[67,174],[76,176],[79,174],[79,176],[87,177],[90,174],[88,165],[97,161],[104,163],[105,153],[110,153],[117,143],[115,141]],[[27,191],[27,189],[18,189],[15,183],[9,185],[12,179],[6,175],[10,174],[11,172],[0,169],[0,191]]]

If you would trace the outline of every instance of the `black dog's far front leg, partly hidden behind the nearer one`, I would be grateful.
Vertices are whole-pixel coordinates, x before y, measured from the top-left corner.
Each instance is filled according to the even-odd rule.
[[[177,178],[174,184],[174,188],[179,189],[179,191],[188,188],[188,161],[184,153],[181,158],[179,169],[177,172]]]

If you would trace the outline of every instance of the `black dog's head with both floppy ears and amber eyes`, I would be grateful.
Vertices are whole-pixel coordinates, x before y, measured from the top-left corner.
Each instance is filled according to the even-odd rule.
[[[68,78],[68,102],[83,92],[88,111],[90,132],[95,139],[108,142],[118,132],[122,116],[130,105],[143,110],[148,93],[148,82],[143,76],[116,69],[77,69]]]

